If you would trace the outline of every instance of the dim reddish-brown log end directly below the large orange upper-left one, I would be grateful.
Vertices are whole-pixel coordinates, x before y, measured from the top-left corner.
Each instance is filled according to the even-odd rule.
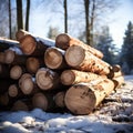
[[[35,74],[38,69],[41,68],[42,64],[44,65],[44,63],[42,63],[39,58],[30,57],[27,59],[25,68],[29,73]]]

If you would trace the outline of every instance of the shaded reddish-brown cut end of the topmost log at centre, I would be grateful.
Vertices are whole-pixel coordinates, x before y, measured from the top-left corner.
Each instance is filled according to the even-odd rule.
[[[55,38],[55,47],[66,50],[69,48],[70,37],[66,33],[61,33]]]

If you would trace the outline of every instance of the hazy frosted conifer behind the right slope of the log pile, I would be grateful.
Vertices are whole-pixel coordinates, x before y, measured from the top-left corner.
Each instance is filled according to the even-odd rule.
[[[110,35],[109,27],[103,27],[102,32],[99,35],[99,43],[96,44],[96,49],[103,52],[103,60],[110,64],[114,64],[116,49],[112,43],[112,37]]]

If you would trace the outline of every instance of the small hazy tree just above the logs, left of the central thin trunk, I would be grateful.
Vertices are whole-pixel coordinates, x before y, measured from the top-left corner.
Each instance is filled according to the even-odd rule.
[[[58,28],[52,27],[49,28],[48,38],[55,40],[58,34],[59,34]]]

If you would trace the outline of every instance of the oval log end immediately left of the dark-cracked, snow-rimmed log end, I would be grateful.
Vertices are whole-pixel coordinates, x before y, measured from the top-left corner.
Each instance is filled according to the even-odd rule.
[[[32,75],[28,75],[24,73],[19,80],[19,88],[25,95],[32,95],[39,91],[39,88],[35,83],[34,78]]]

